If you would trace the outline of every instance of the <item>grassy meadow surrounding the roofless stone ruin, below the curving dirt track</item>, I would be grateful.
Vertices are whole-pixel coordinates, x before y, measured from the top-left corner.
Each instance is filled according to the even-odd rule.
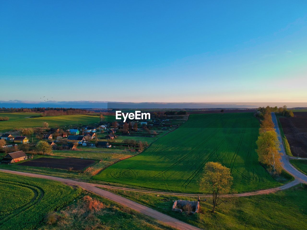
[[[200,202],[200,213],[194,215],[171,211],[174,200],[196,200],[196,197],[144,194],[110,190],[159,212],[208,230],[300,230],[307,229],[307,186],[296,186],[274,194],[237,197],[211,213],[212,200]],[[201,198],[202,199],[202,198]]]

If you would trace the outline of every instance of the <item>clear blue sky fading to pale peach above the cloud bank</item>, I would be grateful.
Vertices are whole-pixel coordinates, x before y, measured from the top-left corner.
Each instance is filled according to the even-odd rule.
[[[307,1],[1,1],[0,100],[307,102]]]

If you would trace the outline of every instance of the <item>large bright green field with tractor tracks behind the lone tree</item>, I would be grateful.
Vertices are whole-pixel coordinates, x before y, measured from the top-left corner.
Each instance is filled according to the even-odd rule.
[[[208,161],[231,169],[238,192],[279,186],[255,152],[259,122],[253,113],[192,114],[140,155],[116,163],[96,180],[178,192],[200,192]]]

